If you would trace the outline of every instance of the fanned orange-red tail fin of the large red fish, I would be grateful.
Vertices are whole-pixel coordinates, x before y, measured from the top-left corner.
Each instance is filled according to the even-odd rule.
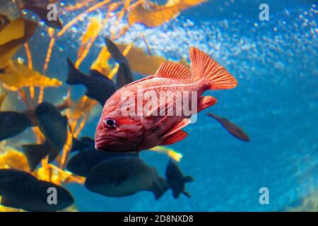
[[[195,47],[190,48],[189,54],[194,78],[203,78],[208,83],[209,90],[236,87],[236,79],[208,54]]]

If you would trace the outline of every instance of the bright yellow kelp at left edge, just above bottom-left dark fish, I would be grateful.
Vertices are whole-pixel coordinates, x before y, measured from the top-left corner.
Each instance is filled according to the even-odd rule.
[[[19,169],[30,171],[28,160],[23,153],[9,148],[3,155],[0,155],[0,169]]]

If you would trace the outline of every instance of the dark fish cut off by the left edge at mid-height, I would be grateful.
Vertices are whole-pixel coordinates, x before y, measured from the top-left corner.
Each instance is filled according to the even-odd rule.
[[[30,118],[20,112],[0,112],[0,141],[22,133],[32,125]]]

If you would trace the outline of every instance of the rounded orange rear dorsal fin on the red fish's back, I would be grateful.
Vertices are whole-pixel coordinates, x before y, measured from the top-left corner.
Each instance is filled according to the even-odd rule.
[[[192,78],[192,74],[187,67],[172,61],[166,61],[165,63],[161,64],[155,73],[155,76],[160,78],[177,79]]]

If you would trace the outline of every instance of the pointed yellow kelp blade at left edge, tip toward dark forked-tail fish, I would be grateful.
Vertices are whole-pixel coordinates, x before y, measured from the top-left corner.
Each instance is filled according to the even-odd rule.
[[[0,74],[0,82],[4,83],[5,88],[18,90],[24,87],[59,87],[61,81],[56,78],[49,78],[38,71],[29,69],[18,61],[11,61],[11,64],[5,69],[5,73]]]

